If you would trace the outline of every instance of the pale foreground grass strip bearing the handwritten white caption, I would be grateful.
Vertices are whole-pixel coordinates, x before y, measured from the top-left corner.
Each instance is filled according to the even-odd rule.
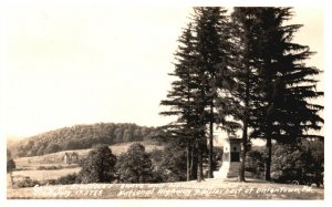
[[[41,186],[7,192],[9,199],[29,198],[176,198],[176,199],[323,199],[324,189],[249,180],[207,179],[167,184],[86,184]]]

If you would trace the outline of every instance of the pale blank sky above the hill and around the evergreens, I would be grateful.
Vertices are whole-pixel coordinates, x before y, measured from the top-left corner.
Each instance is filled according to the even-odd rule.
[[[159,126],[173,120],[158,115],[159,102],[170,89],[167,73],[191,8],[92,2],[6,9],[1,114],[7,135],[100,122]],[[323,70],[323,10],[294,11],[290,23],[304,24],[294,41],[318,52],[307,63]]]

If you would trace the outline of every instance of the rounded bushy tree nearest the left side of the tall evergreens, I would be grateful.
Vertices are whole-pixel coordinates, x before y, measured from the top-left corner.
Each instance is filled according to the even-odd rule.
[[[116,163],[116,174],[124,183],[151,183],[153,182],[152,161],[139,143],[129,146]]]

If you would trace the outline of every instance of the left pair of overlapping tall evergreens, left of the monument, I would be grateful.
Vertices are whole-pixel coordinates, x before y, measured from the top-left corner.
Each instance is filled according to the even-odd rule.
[[[181,138],[187,148],[187,179],[203,179],[203,154],[209,135],[209,177],[212,177],[214,124],[217,122],[218,89],[225,86],[229,61],[229,32],[226,10],[221,8],[194,8],[193,24],[179,38],[175,58],[178,77],[172,83],[168,100],[162,105],[172,106],[163,115],[177,115],[178,120],[168,125],[168,134]],[[222,112],[221,104],[218,111]],[[218,120],[225,120],[219,113]],[[226,113],[224,113],[226,114]],[[209,132],[206,133],[206,125]],[[169,128],[173,128],[170,131]],[[197,168],[197,172],[196,172]],[[190,172],[190,173],[189,173]],[[196,175],[195,175],[196,174]]]

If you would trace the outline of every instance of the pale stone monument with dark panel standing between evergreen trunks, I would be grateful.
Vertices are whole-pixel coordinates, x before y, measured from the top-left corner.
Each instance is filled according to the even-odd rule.
[[[241,139],[229,137],[225,139],[222,165],[214,172],[215,178],[238,177],[240,169]]]

